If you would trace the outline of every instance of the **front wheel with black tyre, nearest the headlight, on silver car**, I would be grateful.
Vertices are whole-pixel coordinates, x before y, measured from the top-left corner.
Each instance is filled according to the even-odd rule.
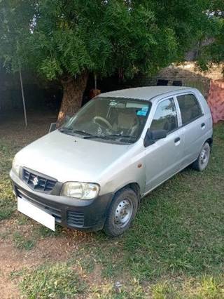
[[[118,237],[128,230],[137,213],[138,204],[137,194],[131,188],[118,191],[106,216],[104,232],[110,237]],[[127,209],[130,213],[125,213]]]

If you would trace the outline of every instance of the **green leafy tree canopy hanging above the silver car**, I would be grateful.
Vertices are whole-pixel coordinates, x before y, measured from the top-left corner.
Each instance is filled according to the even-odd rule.
[[[209,22],[210,1],[1,0],[0,57],[46,79],[121,78],[180,61]]]

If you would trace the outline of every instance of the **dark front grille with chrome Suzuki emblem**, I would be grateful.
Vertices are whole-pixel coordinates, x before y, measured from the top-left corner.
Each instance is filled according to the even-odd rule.
[[[22,179],[31,189],[49,193],[55,187],[57,180],[46,178],[44,175],[36,175],[26,168],[22,168]]]

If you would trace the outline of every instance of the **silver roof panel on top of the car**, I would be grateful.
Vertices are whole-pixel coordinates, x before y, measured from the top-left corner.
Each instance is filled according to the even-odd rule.
[[[110,91],[109,93],[101,93],[100,98],[132,98],[138,100],[151,100],[158,95],[164,95],[165,93],[176,93],[178,91],[193,91],[194,88],[184,86],[148,86],[127,88],[120,91]]]

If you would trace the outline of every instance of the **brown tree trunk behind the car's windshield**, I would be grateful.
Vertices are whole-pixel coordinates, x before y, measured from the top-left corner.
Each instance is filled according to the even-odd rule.
[[[72,117],[82,105],[83,93],[87,84],[88,74],[62,79],[63,98],[57,118],[57,126],[61,126],[66,116]]]

